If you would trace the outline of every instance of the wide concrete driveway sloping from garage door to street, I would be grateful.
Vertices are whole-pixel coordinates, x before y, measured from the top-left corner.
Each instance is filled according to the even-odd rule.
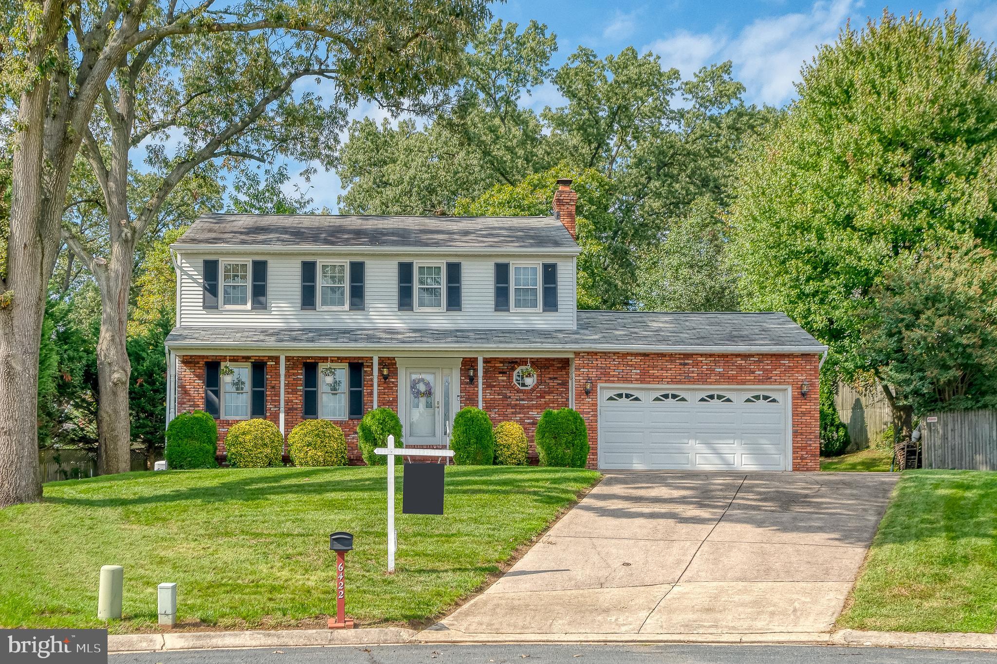
[[[447,640],[828,632],[896,479],[609,474],[431,629]]]

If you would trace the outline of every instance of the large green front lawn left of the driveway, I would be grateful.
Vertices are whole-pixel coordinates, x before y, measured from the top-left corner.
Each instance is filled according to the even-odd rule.
[[[401,469],[400,469],[401,470]],[[599,477],[554,468],[447,468],[445,514],[401,513],[388,575],[386,467],[130,473],[45,485],[0,509],[0,625],[92,627],[102,564],[125,566],[124,620],[156,628],[175,581],[190,627],[319,626],[335,613],[329,533],[349,530],[347,613],[364,624],[438,615]]]

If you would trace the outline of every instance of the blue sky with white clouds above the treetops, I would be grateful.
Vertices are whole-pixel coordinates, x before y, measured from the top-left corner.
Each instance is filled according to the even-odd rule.
[[[851,0],[508,0],[493,5],[492,10],[497,18],[520,25],[530,19],[545,23],[557,35],[554,66],[563,63],[579,45],[600,56],[619,53],[627,46],[641,53],[653,51],[661,56],[664,66],[677,67],[684,76],[703,65],[732,60],[735,76],[748,89],[747,101],[783,106],[792,101],[800,66],[814,55],[817,45],[833,41],[849,18],[852,25],[863,25],[869,16],[878,17],[884,6]],[[920,11],[927,17],[956,10],[976,37],[997,41],[994,0],[888,7],[894,14]],[[526,103],[542,109],[557,101],[556,90],[548,85],[533,91]],[[352,116],[384,117],[367,106],[356,109]],[[298,165],[289,166],[295,172]],[[336,195],[341,192],[339,179],[334,172],[320,170],[312,177],[308,192],[316,205],[335,210]]]

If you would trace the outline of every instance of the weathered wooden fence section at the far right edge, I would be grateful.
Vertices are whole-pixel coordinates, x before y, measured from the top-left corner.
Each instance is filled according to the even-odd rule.
[[[997,411],[929,413],[921,431],[924,468],[997,471]]]

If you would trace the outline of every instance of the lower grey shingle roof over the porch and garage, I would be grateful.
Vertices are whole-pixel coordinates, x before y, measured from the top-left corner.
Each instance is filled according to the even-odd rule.
[[[817,339],[782,313],[652,313],[579,311],[577,330],[329,327],[176,327],[169,346],[226,348],[448,348],[547,351],[643,350],[648,352],[811,352]]]

